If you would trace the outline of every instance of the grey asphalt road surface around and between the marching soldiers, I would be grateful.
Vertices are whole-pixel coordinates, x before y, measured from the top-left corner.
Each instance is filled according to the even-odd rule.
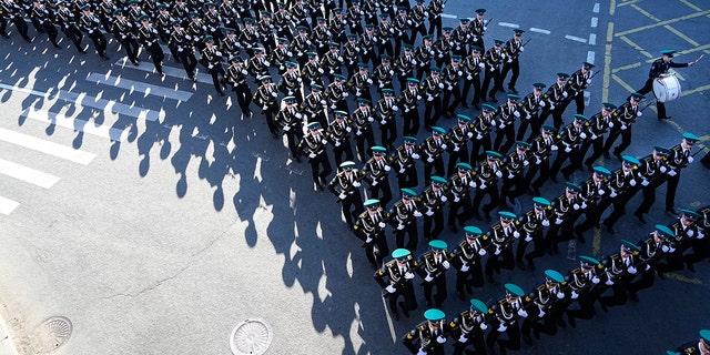
[[[582,61],[595,63],[589,115],[641,88],[661,50],[678,50],[679,62],[710,54],[710,7],[698,0],[452,0],[444,24],[479,7],[493,18],[486,45],[514,28],[531,39],[520,59],[521,94]],[[91,51],[78,54],[65,39],[62,50],[42,36],[32,44],[18,40],[2,39],[0,50],[0,316],[20,354],[231,354],[232,331],[245,320],[271,328],[267,354],[406,353],[399,339],[423,320],[423,306],[410,318],[388,317],[335,197],[313,191],[308,165],[288,159],[262,118],[242,118],[234,97],[217,97],[204,74],[193,84],[170,58],[161,78],[144,53],[140,67],[125,64],[114,41],[111,60],[101,61]],[[696,150],[707,151],[709,63],[677,70],[682,97],[667,104],[672,120],[657,121],[651,104],[633,126],[628,154],[672,146],[687,131],[701,138]],[[678,207],[707,205],[709,176],[700,164],[683,171]],[[549,182],[542,194],[562,191],[562,182]],[[649,225],[626,215],[615,235],[597,231],[584,245],[561,245],[536,272],[504,271],[498,282],[531,290],[545,268],[565,273],[577,255],[601,257],[620,239],[639,240],[650,225],[670,223],[665,191]],[[638,203],[636,196],[627,210]],[[524,195],[516,212],[530,205]],[[442,237],[453,244],[462,235]],[[657,281],[639,303],[544,335],[520,353],[663,354],[696,338],[710,327],[710,263],[696,267]],[[453,276],[447,316],[467,307]],[[503,295],[501,285],[486,285],[475,296],[491,304]],[[417,297],[423,304],[419,288]],[[71,332],[49,333],[55,320],[70,320]]]

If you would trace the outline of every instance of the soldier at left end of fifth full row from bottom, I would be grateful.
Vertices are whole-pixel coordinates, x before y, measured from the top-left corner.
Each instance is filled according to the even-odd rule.
[[[298,150],[308,158],[314,189],[323,191],[325,178],[333,172],[333,168],[325,150],[328,142],[321,130],[320,122],[308,123],[308,134],[298,143]]]

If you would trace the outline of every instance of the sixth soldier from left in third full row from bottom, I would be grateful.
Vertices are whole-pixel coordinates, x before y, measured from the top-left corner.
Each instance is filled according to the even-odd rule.
[[[518,141],[515,151],[507,156],[500,187],[500,209],[503,210],[509,210],[508,201],[515,204],[515,199],[526,192],[525,168],[530,164],[527,153],[529,149],[530,143]]]

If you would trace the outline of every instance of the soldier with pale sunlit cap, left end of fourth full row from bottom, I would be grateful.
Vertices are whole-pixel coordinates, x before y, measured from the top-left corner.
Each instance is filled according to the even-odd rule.
[[[363,213],[363,199],[359,196],[359,180],[363,179],[363,174],[355,169],[352,161],[343,162],[339,168],[341,171],[328,183],[328,190],[341,203],[347,227],[353,230],[353,216],[357,217]]]

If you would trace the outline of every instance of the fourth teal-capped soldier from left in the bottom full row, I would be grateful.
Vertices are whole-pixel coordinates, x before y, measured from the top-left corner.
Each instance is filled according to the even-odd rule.
[[[530,329],[536,339],[540,338],[540,333],[555,336],[557,334],[557,323],[561,323],[561,316],[565,312],[565,290],[567,286],[565,276],[555,270],[545,271],[545,284],[535,288],[531,303],[532,316],[528,316],[523,321],[520,332],[523,339],[532,346],[530,338]],[[536,310],[537,308],[537,310]],[[540,321],[542,321],[540,323]]]

